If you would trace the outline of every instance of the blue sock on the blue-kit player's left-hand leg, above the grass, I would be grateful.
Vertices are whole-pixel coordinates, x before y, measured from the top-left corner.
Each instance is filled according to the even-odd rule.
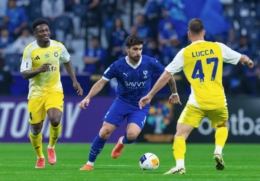
[[[90,148],[89,152],[89,161],[94,162],[99,155],[99,153],[102,151],[104,148],[105,142],[107,140],[100,138],[99,134],[96,136],[94,139],[92,146]]]

